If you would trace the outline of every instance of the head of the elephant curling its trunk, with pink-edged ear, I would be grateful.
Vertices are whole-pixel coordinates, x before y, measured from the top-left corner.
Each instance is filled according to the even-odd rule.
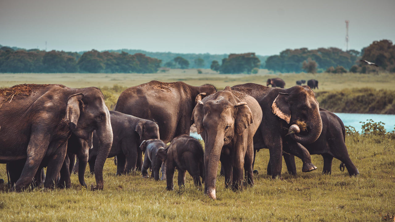
[[[293,125],[297,122],[306,124],[305,131],[290,134],[301,144],[313,143],[322,131],[322,120],[314,92],[308,86],[295,86],[278,93],[272,104],[273,113]],[[288,125],[288,126],[289,126]],[[289,128],[295,128],[295,126]]]

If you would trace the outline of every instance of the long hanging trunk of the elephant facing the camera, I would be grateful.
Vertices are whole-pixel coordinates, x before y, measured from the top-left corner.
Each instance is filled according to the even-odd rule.
[[[210,135],[210,134],[209,134]],[[205,147],[204,152],[204,162],[205,162],[205,189],[207,195],[211,199],[216,199],[215,195],[215,183],[218,171],[218,162],[220,160],[220,154],[222,147],[224,145],[223,135],[218,135],[216,137],[209,136],[208,144]]]

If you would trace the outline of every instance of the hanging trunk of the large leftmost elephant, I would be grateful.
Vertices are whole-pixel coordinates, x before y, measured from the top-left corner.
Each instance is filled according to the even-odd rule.
[[[113,145],[113,130],[111,128],[109,115],[107,121],[103,122],[102,126],[96,129],[96,135],[99,139],[99,149],[94,168],[96,189],[102,190],[104,187],[103,167],[105,160],[107,160],[108,154],[110,153],[111,146]]]

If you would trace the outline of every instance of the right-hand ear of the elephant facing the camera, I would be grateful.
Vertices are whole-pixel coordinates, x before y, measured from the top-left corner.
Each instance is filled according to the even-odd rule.
[[[244,130],[253,122],[252,112],[246,102],[237,103],[235,105],[235,108],[237,109],[235,118],[235,130],[237,134],[241,135],[243,134]]]

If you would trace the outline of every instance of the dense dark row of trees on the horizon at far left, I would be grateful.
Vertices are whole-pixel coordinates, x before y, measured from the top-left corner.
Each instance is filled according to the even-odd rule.
[[[0,48],[3,73],[156,73],[161,60],[141,53],[40,51]]]

